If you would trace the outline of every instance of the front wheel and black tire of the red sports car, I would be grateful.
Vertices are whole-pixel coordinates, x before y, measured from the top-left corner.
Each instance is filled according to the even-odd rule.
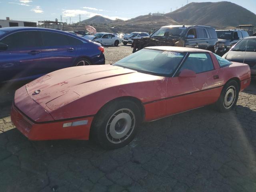
[[[110,102],[94,118],[90,135],[106,150],[121,148],[133,140],[140,122],[140,109],[134,102]]]

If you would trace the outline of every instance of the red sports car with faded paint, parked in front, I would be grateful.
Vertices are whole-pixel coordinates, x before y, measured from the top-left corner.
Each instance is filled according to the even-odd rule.
[[[11,118],[30,140],[92,136],[113,149],[132,141],[140,122],[209,104],[231,110],[250,80],[247,64],[210,51],[148,47],[113,65],[65,68],[22,86]]]

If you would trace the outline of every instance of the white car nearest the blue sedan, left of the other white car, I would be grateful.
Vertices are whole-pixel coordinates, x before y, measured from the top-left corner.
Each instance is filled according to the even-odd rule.
[[[100,43],[102,45],[118,46],[118,44],[122,42],[122,38],[112,33],[101,32],[101,33],[96,33],[92,41]]]

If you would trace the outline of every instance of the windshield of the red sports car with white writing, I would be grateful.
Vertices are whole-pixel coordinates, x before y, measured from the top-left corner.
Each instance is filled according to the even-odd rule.
[[[142,49],[114,65],[160,76],[169,75],[174,72],[184,56],[184,52]]]

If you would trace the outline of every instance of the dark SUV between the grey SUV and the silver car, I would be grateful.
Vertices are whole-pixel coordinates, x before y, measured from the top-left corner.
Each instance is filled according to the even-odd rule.
[[[242,38],[248,37],[247,31],[242,29],[216,30],[218,36],[218,51],[216,54],[222,56]]]

